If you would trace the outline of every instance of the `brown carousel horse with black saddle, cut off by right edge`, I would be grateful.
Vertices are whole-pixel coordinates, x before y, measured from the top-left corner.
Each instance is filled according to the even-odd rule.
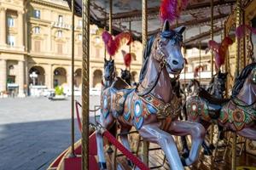
[[[216,99],[200,88],[198,96],[187,101],[189,121],[201,122],[207,129],[212,122],[256,140],[256,64],[247,65],[236,77],[231,99]]]

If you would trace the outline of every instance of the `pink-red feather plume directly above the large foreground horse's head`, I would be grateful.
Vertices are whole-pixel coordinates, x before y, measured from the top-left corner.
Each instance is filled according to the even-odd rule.
[[[162,0],[160,4],[160,20],[177,20],[181,11],[187,7],[189,0]]]

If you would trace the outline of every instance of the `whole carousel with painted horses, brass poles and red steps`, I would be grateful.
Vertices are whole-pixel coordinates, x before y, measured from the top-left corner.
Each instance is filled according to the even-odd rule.
[[[49,170],[256,169],[256,0],[67,3],[73,43],[74,15],[83,18],[82,102],[72,95],[71,146]],[[95,110],[89,108],[90,24],[104,30],[106,51]],[[131,81],[135,40],[143,43],[137,82]],[[193,79],[184,69],[190,48],[200,51]],[[201,50],[211,53],[207,88],[201,85]],[[117,57],[124,59],[121,75]],[[90,122],[96,111],[101,115]]]

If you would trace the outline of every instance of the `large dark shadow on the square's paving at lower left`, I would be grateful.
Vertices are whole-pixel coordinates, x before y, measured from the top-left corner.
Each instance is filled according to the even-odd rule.
[[[75,120],[75,140],[78,129]],[[0,125],[0,169],[45,170],[70,144],[70,120]]]

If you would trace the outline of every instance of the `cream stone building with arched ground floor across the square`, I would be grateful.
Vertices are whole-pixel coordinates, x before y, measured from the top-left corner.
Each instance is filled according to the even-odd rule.
[[[0,1],[0,92],[26,96],[31,85],[71,86],[72,14],[62,0]],[[75,17],[75,86],[81,86],[82,19]],[[102,29],[90,26],[90,87],[100,86],[105,48]],[[126,52],[129,47],[123,46]],[[119,50],[120,51],[120,50]],[[133,42],[133,80],[142,61],[142,44]],[[107,55],[108,57],[108,55]],[[122,54],[114,56],[117,72],[125,69]]]

